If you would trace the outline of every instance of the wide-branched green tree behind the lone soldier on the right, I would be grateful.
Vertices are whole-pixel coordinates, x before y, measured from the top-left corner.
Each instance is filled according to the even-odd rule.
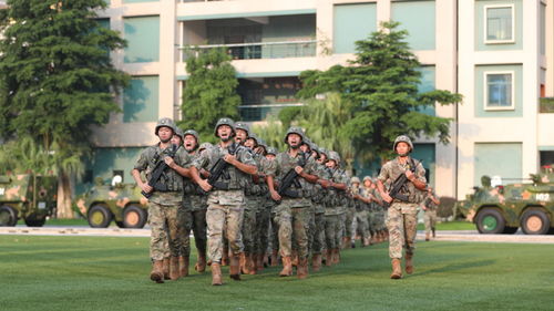
[[[305,71],[298,96],[314,99],[337,92],[349,104],[351,118],[338,128],[338,135],[352,142],[358,155],[391,156],[391,145],[400,134],[450,139],[451,120],[424,113],[435,102],[449,105],[461,102],[460,94],[435,90],[419,93],[421,64],[404,42],[407,31],[397,22],[381,23],[369,39],[356,42],[356,59],[348,66],[327,71]],[[320,126],[326,126],[321,124]]]

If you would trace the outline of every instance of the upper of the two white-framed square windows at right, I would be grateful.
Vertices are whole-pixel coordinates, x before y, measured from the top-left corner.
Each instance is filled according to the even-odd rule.
[[[514,43],[514,6],[485,6],[485,43]]]

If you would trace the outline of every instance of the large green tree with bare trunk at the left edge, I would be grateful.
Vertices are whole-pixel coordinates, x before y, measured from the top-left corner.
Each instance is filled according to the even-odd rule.
[[[91,125],[120,111],[114,93],[129,76],[113,68],[109,51],[125,41],[96,21],[104,0],[7,4],[0,10],[0,135],[40,146],[59,173],[59,216],[71,217],[70,177],[82,169]]]

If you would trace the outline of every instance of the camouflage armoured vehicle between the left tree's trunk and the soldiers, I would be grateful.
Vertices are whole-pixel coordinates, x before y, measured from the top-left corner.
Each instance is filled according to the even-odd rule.
[[[93,187],[76,198],[79,211],[93,228],[106,228],[112,220],[120,228],[144,227],[148,217],[147,199],[136,185],[117,183],[116,177],[112,185],[98,178]]]

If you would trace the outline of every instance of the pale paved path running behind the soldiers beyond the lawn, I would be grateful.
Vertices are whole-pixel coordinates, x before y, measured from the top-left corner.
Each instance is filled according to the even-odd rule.
[[[83,226],[29,228],[25,226],[0,227],[0,235],[31,236],[89,236],[89,237],[150,237],[150,229],[90,228]],[[418,231],[418,240],[425,235]],[[554,235],[527,236],[517,231],[515,235],[480,235],[476,230],[437,231],[437,241],[475,241],[475,242],[516,242],[516,243],[554,243]]]

